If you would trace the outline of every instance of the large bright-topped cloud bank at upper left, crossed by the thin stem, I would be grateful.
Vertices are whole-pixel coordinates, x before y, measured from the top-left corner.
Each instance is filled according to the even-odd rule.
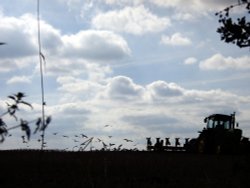
[[[15,71],[38,63],[35,16],[0,15],[0,18],[0,35],[7,43],[0,50],[0,72]],[[111,70],[107,66],[99,68],[94,61],[106,64],[118,62],[131,54],[126,40],[110,31],[85,30],[66,35],[41,20],[41,33],[42,51],[49,62],[46,67],[49,74],[80,75],[93,70],[87,73],[89,78],[100,79]]]

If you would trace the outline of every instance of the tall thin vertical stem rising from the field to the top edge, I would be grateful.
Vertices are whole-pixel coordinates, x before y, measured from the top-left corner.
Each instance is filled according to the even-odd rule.
[[[42,52],[41,52],[41,31],[40,31],[40,1],[37,0],[37,39],[38,39],[38,56],[40,62],[40,75],[41,75],[41,93],[42,93],[42,144],[41,150],[44,149],[44,136],[45,136],[45,99],[44,99],[44,81],[43,81],[43,61],[42,61]]]

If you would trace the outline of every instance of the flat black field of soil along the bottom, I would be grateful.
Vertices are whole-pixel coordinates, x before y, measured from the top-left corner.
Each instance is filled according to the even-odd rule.
[[[0,151],[0,188],[249,188],[250,156]]]

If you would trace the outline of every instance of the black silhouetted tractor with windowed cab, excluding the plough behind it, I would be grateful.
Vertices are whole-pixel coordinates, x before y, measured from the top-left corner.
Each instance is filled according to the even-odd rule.
[[[184,144],[187,152],[224,154],[249,152],[249,140],[242,137],[242,130],[235,122],[235,113],[213,114],[206,117],[204,123],[206,128],[199,132],[198,138]]]

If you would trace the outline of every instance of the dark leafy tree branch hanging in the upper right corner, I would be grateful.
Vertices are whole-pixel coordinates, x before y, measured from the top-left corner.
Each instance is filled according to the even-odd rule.
[[[238,0],[237,4],[230,5],[215,14],[219,17],[220,23],[217,32],[220,33],[221,40],[226,43],[233,43],[240,48],[250,47],[250,22],[246,16],[235,20],[230,14],[232,9],[239,6],[245,8],[246,15],[250,14],[250,0]]]

